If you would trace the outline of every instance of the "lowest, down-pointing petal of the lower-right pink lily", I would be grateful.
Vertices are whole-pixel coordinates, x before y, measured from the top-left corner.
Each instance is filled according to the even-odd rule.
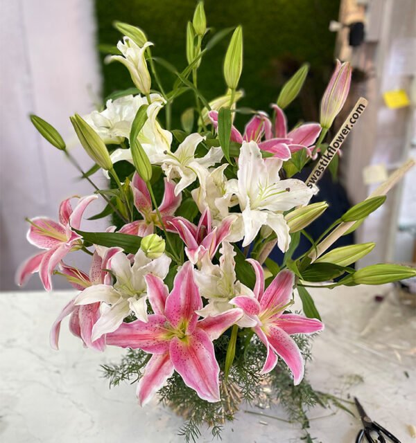
[[[267,337],[272,348],[291,370],[293,383],[298,385],[304,376],[304,361],[299,347],[290,335],[274,325],[269,325]]]

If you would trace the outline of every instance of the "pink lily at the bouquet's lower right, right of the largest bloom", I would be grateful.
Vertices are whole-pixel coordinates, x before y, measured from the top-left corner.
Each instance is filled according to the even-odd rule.
[[[315,318],[306,318],[297,314],[283,314],[291,305],[291,293],[294,276],[291,271],[279,272],[264,291],[264,273],[261,264],[249,259],[256,273],[254,286],[255,298],[237,296],[230,303],[241,307],[253,320],[253,330],[267,347],[266,362],[261,370],[267,374],[277,364],[280,356],[293,374],[293,381],[298,385],[304,377],[304,361],[297,344],[291,338],[293,334],[313,334],[324,329],[323,323]]]

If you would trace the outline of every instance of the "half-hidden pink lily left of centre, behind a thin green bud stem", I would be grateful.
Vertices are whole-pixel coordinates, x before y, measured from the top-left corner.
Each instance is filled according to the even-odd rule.
[[[173,181],[168,181],[168,179],[165,178],[164,183],[164,195],[162,203],[159,206],[159,213],[162,215],[162,221],[166,224],[166,222],[173,217],[175,210],[180,206],[182,196],[175,196],[176,184],[173,183]],[[160,227],[159,218],[157,217],[156,211],[153,210],[152,199],[150,198],[146,182],[141,179],[137,172],[135,172],[133,176],[131,188],[135,199],[135,207],[143,216],[143,220],[136,220],[125,224],[119,232],[146,237],[146,235],[153,234],[155,226]]]

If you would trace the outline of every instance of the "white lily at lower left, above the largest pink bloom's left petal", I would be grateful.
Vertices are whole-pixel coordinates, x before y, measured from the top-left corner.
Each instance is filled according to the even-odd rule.
[[[150,260],[141,249],[137,251],[132,264],[123,252],[116,253],[107,264],[116,278],[114,285],[94,284],[84,289],[74,302],[75,305],[104,303],[101,317],[92,329],[92,341],[103,334],[114,332],[131,312],[139,320],[147,322],[147,287],[144,277],[151,273],[163,280],[170,264],[171,259],[167,255]]]

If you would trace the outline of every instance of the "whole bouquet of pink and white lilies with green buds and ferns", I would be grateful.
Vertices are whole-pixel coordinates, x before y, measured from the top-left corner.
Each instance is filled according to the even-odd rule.
[[[300,92],[308,66],[281,89],[271,117],[240,109],[241,26],[232,33],[225,55],[225,95],[209,102],[202,95],[200,63],[232,32],[208,39],[202,2],[187,26],[189,64],[183,71],[154,57],[153,44],[139,28],[121,23],[116,28],[124,37],[107,60],[124,64],[135,88],[113,95],[101,111],[71,117],[93,167],[84,172],[60,134],[42,118],[31,117],[95,192],[62,201],[59,221],[28,219],[28,241],[42,252],[21,265],[17,280],[24,284],[39,273],[50,291],[53,274],[67,278],[78,293],[52,326],[52,347],[58,349],[60,325],[69,316],[69,329],[85,347],[127,348],[121,364],[103,367],[110,383],[136,380],[142,406],[158,392],[188,419],[182,429],[186,440],[198,437],[202,423],[217,435],[242,399],[279,397],[306,428],[303,406],[342,406],[304,380],[306,336],[324,329],[307,287],[311,282],[327,282],[329,288],[381,284],[416,274],[397,264],[356,271],[351,265],[372,251],[373,243],[327,252],[383,204],[411,164],[320,238],[311,239],[304,228],[328,204],[310,204],[317,183],[293,177],[332,149],[324,141],[347,98],[349,64],[337,62],[322,98],[320,123],[289,130],[284,109]],[[175,75],[171,91],[159,82],[156,66]],[[196,105],[183,112],[182,129],[171,129],[175,98],[188,91]],[[158,116],[162,110],[165,125]],[[236,113],[252,114],[243,133],[233,124]],[[95,185],[92,177],[98,170],[112,179],[110,189]],[[85,209],[99,197],[107,205],[92,218],[112,216],[114,226],[101,233],[80,230]],[[296,256],[302,235],[311,248]],[[284,252],[280,264],[268,257],[275,247]],[[91,256],[88,273],[65,263],[75,251]],[[292,311],[297,297],[303,313]]]

